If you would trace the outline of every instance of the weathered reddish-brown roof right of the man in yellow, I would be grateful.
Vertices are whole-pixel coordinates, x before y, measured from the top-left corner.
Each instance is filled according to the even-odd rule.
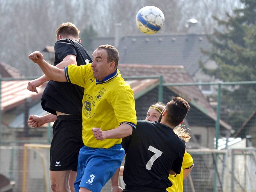
[[[129,76],[163,76],[164,83],[168,84],[194,82],[183,66],[118,64],[118,69],[124,78]],[[215,111],[197,86],[168,86],[168,89],[216,121]],[[231,130],[231,126],[222,120],[220,120],[220,125]]]

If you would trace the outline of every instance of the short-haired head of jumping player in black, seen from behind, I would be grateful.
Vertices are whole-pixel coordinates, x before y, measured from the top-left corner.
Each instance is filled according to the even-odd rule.
[[[62,23],[56,30],[57,40],[62,38],[79,40],[80,30],[73,23]]]

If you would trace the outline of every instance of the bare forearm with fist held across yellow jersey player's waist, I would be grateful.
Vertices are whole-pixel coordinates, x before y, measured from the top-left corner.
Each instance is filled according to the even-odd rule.
[[[123,123],[116,127],[115,129],[110,129],[107,131],[102,131],[99,127],[92,128],[94,137],[97,140],[104,139],[121,139],[132,134],[132,126],[126,123]]]

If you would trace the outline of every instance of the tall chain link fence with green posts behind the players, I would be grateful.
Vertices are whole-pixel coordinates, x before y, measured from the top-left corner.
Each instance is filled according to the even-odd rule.
[[[195,167],[184,180],[183,191],[256,191],[256,82],[163,84],[159,78],[158,83],[135,100],[136,112],[143,119],[153,102],[166,103],[174,96],[189,102],[191,109],[185,125],[190,129],[191,140],[186,146]],[[210,87],[211,92],[207,95],[200,91],[204,86]],[[6,87],[7,91],[1,92],[1,84],[0,93],[4,95],[0,95],[0,103],[7,102],[6,97],[12,89]],[[15,182],[13,192],[51,191],[49,149],[30,147],[24,160],[24,143],[49,144],[52,139],[50,125],[35,130],[24,123],[30,113],[28,108],[35,107],[36,113],[40,108],[38,102],[40,97],[26,100],[0,114],[0,174]],[[120,185],[124,187],[122,177]],[[109,190],[110,182],[102,191]]]

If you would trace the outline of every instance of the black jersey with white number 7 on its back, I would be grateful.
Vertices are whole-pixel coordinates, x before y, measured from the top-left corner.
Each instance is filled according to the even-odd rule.
[[[122,147],[126,153],[123,178],[128,191],[165,191],[172,186],[169,171],[180,173],[186,148],[171,127],[144,120],[137,121]]]

